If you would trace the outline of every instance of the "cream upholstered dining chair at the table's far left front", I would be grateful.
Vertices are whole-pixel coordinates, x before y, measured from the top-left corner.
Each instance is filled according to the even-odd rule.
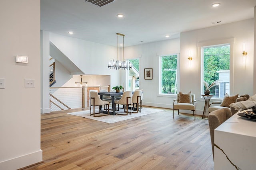
[[[93,113],[92,113],[92,106],[93,106]],[[95,113],[95,106],[99,106],[99,112]],[[108,106],[108,114],[100,114],[100,106]],[[100,116],[106,116],[109,115],[109,102],[103,101],[100,99],[100,96],[98,95],[98,92],[91,91],[90,92],[90,116],[93,115],[94,117],[100,117]]]

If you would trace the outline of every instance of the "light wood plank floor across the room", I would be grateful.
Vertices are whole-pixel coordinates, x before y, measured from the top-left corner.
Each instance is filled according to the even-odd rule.
[[[81,109],[80,109],[81,110]],[[72,110],[78,111],[78,110]],[[41,115],[44,162],[26,170],[212,170],[208,120],[165,109],[117,123]]]

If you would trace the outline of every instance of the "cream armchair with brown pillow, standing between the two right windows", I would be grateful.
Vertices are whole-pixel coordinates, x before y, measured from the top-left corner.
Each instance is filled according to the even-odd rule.
[[[177,102],[175,104],[175,102]],[[177,99],[173,100],[173,119],[174,119],[174,110],[178,109],[178,115],[180,113],[180,109],[182,110],[192,110],[194,119],[196,120],[196,100],[195,100],[195,94],[192,94],[191,92],[187,94],[183,94],[180,92],[177,94]]]

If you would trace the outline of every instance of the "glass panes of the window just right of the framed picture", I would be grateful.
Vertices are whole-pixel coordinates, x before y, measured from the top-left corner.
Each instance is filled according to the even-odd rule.
[[[178,55],[160,56],[160,94],[177,94]]]

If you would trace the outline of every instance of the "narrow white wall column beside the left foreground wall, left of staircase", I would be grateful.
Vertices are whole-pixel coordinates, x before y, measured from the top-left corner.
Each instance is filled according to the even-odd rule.
[[[41,31],[41,113],[50,113],[49,66],[50,66],[50,33]]]

